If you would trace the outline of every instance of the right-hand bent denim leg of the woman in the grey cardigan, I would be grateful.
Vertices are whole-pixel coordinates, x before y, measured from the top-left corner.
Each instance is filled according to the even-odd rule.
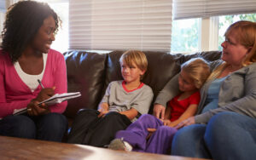
[[[235,112],[221,112],[207,125],[205,142],[213,159],[256,157],[256,119]]]

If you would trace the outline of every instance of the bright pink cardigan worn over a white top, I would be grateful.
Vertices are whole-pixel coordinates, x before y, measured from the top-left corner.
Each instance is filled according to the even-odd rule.
[[[67,93],[67,70],[64,56],[49,49],[44,76],[42,78],[44,88],[55,86],[55,94]],[[3,54],[0,50],[0,118],[13,114],[15,109],[25,108],[29,102],[36,98],[42,87],[33,92],[24,83],[15,66],[12,64],[9,54]],[[62,113],[67,107],[67,101],[49,106],[51,112]]]

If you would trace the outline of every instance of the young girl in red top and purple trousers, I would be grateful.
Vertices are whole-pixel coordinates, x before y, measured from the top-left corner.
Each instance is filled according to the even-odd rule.
[[[141,116],[126,130],[116,134],[108,148],[125,151],[146,151],[164,154],[171,147],[173,128],[188,117],[195,115],[200,101],[199,89],[210,75],[205,60],[192,59],[183,64],[178,78],[181,94],[168,102],[164,120],[149,114]]]

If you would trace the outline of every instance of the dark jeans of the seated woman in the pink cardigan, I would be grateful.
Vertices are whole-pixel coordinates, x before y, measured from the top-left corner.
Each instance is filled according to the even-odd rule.
[[[0,134],[5,136],[61,141],[66,131],[67,118],[59,113],[8,116],[0,120]]]

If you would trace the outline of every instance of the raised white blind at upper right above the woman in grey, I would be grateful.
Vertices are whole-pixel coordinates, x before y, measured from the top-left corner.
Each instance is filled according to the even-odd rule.
[[[256,0],[173,0],[174,20],[256,12]]]

